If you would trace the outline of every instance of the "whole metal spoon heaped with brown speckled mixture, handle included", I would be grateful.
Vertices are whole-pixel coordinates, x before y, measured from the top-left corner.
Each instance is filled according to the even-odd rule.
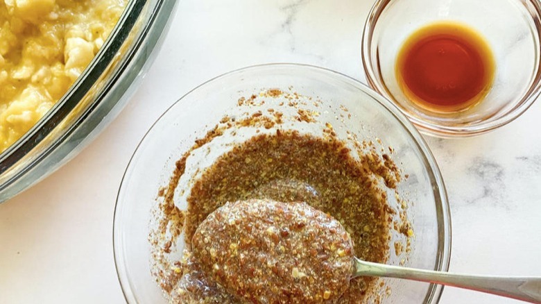
[[[298,224],[291,226],[292,223]],[[277,233],[289,226],[292,228]],[[319,254],[311,253],[314,245]],[[359,260],[352,246],[350,235],[339,221],[306,203],[257,199],[226,203],[209,214],[192,238],[194,257],[203,271],[227,292],[249,302],[255,301],[254,295],[258,302],[278,302],[280,295],[286,294],[284,290],[295,297],[295,301],[287,298],[289,302],[314,301],[311,298],[314,294],[323,294],[324,299],[332,300],[341,296],[345,291],[342,287],[347,287],[351,278],[378,276],[541,303],[541,277],[471,276],[389,266]],[[261,262],[261,257],[280,262],[284,267],[282,273],[291,273],[291,276],[277,276],[280,271],[269,271],[273,263]],[[322,264],[327,267],[320,267]],[[302,280],[304,276],[310,276],[314,282]],[[329,276],[332,280],[322,279]],[[250,278],[250,284],[246,284],[244,278]]]

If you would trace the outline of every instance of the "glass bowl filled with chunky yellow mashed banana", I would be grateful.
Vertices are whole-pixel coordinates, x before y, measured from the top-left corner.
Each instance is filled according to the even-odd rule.
[[[123,108],[175,0],[0,3],[0,203],[67,162]]]

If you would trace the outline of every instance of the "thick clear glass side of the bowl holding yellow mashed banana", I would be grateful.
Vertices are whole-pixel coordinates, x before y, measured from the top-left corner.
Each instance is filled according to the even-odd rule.
[[[94,60],[40,121],[0,154],[0,203],[73,158],[120,112],[162,42],[176,0],[131,0]]]

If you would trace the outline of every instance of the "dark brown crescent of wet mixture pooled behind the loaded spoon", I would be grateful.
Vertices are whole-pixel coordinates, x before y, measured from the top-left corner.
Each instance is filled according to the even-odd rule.
[[[257,135],[222,155],[194,184],[184,226],[187,247],[200,223],[227,201],[273,199],[305,201],[340,221],[363,260],[385,262],[389,210],[384,192],[372,178],[368,160],[352,158],[338,140],[298,132]],[[182,273],[193,268],[181,264]],[[202,284],[203,285],[203,284]],[[355,278],[338,303],[359,303],[374,278]],[[221,303],[223,295],[203,294],[207,287],[181,291],[173,302]]]

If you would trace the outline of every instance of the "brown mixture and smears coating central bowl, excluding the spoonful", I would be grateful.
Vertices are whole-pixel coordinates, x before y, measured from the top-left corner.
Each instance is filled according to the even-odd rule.
[[[393,230],[407,239],[397,255],[409,251],[413,231],[406,208],[388,204],[388,191],[395,191],[402,178],[392,160],[392,148],[378,146],[377,140],[359,140],[349,131],[347,138],[339,138],[329,121],[318,118],[323,101],[293,92],[267,90],[241,97],[238,106],[246,112],[240,117],[223,117],[205,137],[195,140],[175,163],[169,185],[158,193],[149,241],[153,275],[170,303],[241,303],[207,276],[191,248],[200,223],[227,202],[307,203],[340,221],[351,235],[355,254],[363,260],[386,262]],[[338,121],[351,119],[344,107],[337,115]],[[294,123],[320,128],[318,133],[303,133],[288,128]],[[207,167],[189,169],[194,167],[190,158],[195,153],[206,155],[209,150],[205,148],[216,149],[214,141],[241,137],[244,129],[251,131],[246,140],[225,145]],[[189,183],[183,185],[182,180]],[[180,207],[184,199],[187,208]],[[176,251],[178,242],[184,244],[182,253]],[[280,267],[275,268],[275,275],[310,280],[298,272],[281,272]],[[332,303],[379,301],[387,292],[381,279],[359,277]],[[281,296],[287,298],[287,294]],[[330,296],[324,292],[314,295],[314,303],[328,302]]]

